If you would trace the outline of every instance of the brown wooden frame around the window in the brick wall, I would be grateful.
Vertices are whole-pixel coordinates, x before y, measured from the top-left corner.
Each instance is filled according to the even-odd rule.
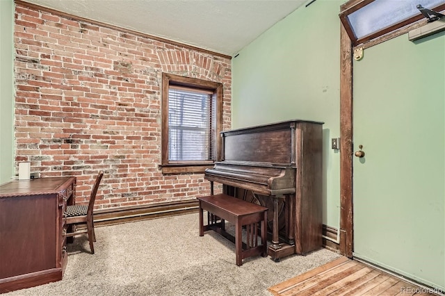
[[[170,161],[168,159],[168,92],[170,85],[195,88],[213,92],[216,99],[216,131],[215,160],[211,161]],[[181,174],[204,172],[213,167],[215,161],[221,158],[220,132],[223,128],[223,84],[202,79],[195,79],[175,74],[162,74],[162,132],[161,132],[161,169],[163,174]]]

